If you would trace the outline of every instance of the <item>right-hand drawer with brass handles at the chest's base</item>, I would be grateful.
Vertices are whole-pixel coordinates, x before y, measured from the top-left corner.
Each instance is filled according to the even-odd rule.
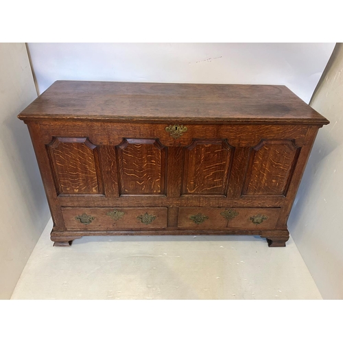
[[[274,228],[280,210],[181,207],[178,211],[178,228]]]

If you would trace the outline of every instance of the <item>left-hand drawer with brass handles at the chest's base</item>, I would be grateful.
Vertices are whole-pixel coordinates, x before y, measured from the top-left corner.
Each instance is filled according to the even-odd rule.
[[[167,227],[166,207],[62,207],[67,230]]]

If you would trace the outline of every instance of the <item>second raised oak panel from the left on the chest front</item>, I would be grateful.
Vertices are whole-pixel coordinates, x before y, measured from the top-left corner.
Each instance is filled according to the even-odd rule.
[[[125,139],[117,147],[121,195],[165,194],[165,155],[156,139]]]

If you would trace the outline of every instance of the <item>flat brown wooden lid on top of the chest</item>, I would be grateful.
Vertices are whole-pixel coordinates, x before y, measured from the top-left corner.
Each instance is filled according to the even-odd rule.
[[[326,124],[285,86],[56,81],[21,119],[248,120]]]

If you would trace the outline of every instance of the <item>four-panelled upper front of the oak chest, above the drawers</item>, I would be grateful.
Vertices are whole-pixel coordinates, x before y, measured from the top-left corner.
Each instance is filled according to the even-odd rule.
[[[168,197],[169,188],[174,197],[285,197],[307,131],[305,127],[285,126],[282,137],[276,127],[272,137],[271,130],[264,128],[259,136],[254,131],[250,141],[237,141],[240,131],[235,127],[230,132],[230,126],[217,126],[215,137],[211,129],[202,127],[203,131],[192,137],[190,126],[182,135],[187,136],[182,144],[182,137],[170,141],[165,130],[156,138],[150,138],[156,129],[147,130],[144,136],[140,132],[139,137],[131,126],[125,135],[121,132],[123,137],[117,137],[116,123],[103,125],[102,137],[94,136],[85,123],[78,130],[66,123],[63,136],[60,130],[42,126],[43,134],[49,137],[45,145],[58,196]],[[149,124],[146,126],[149,128]],[[115,132],[113,139],[109,137],[111,130]],[[241,130],[252,128],[241,126]],[[201,137],[204,132],[208,132],[208,137]],[[226,137],[222,136],[224,133]],[[244,134],[245,131],[241,133]],[[111,140],[119,142],[108,145],[115,143]],[[178,154],[171,151],[168,159],[172,149],[178,149]],[[169,174],[170,180],[169,168],[177,169]]]

